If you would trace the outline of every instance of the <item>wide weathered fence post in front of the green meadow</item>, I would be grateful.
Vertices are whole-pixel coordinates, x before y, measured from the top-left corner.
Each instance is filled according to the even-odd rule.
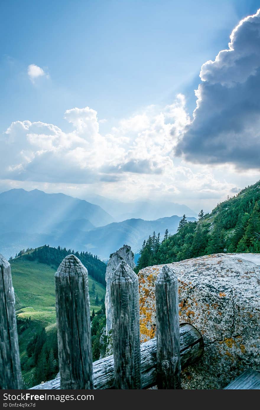
[[[55,273],[60,388],[93,389],[87,269],[66,256]]]

